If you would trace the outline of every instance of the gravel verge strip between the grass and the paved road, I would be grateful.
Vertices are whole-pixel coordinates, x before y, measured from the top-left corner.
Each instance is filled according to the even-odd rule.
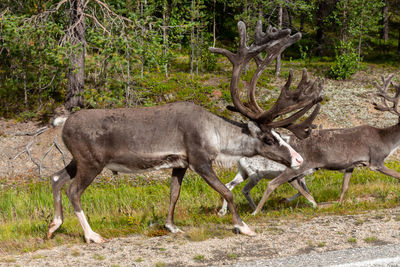
[[[201,242],[184,234],[133,235],[104,244],[64,245],[0,258],[19,266],[204,266],[261,258],[399,243],[400,208],[310,220],[269,220],[252,225],[256,237],[232,235]],[[232,228],[230,225],[222,226]],[[187,230],[187,229],[183,229]]]

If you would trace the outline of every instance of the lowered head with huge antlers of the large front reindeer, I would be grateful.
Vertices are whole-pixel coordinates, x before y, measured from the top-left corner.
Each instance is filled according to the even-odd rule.
[[[261,21],[257,22],[255,29],[254,42],[247,46],[246,44],[246,25],[240,21],[239,30],[239,48],[236,53],[226,49],[210,47],[213,53],[225,55],[233,65],[230,90],[234,107],[231,110],[240,112],[249,118],[249,130],[253,137],[258,138],[262,143],[260,155],[276,160],[290,167],[299,167],[303,159],[288,145],[274,128],[286,128],[293,132],[298,138],[303,139],[310,135],[313,127],[312,122],[319,112],[322,100],[323,80],[320,82],[310,81],[307,78],[307,71],[303,70],[303,77],[294,91],[290,90],[293,79],[293,73],[290,71],[288,81],[282,87],[281,93],[276,103],[269,109],[263,110],[255,100],[255,89],[261,73],[265,70],[279,54],[291,44],[301,38],[301,34],[290,35],[290,30],[279,30],[269,26],[266,32],[262,31]],[[266,52],[265,58],[260,54]],[[257,63],[257,69],[251,79],[248,90],[248,103],[242,103],[239,97],[239,81],[243,68],[254,59]],[[302,117],[316,105],[312,114],[302,123],[294,124],[296,120]],[[275,121],[278,117],[292,113],[285,119]],[[257,127],[257,129],[256,129]]]

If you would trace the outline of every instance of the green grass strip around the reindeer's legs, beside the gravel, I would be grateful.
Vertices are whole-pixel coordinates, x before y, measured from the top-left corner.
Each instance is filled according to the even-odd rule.
[[[388,167],[399,171],[400,164],[389,162]],[[230,181],[233,170],[218,170],[223,182]],[[308,186],[317,202],[339,198],[343,174],[318,171],[307,178]],[[388,176],[361,168],[354,171],[343,205],[334,204],[312,209],[304,198],[292,203],[281,203],[282,198],[295,194],[289,185],[279,187],[264,206],[263,212],[251,216],[251,209],[241,194],[234,190],[234,199],[242,219],[250,225],[270,218],[296,217],[309,219],[324,214],[356,214],[365,210],[392,208],[399,204],[398,181]],[[262,181],[251,194],[256,202],[261,199],[267,181]],[[147,236],[168,234],[163,228],[169,205],[169,179],[129,179],[120,176],[98,178],[82,196],[82,206],[92,228],[105,238],[139,233]],[[4,187],[0,192],[0,247],[5,253],[34,251],[61,244],[83,243],[83,231],[74,215],[68,198],[62,196],[64,223],[55,237],[45,238],[53,218],[53,200],[48,182],[31,182],[17,187]],[[232,217],[216,214],[221,206],[220,196],[199,176],[188,172],[175,211],[176,224],[193,241],[224,238],[233,235]],[[362,222],[359,222],[360,224]],[[271,233],[279,234],[271,227]],[[349,242],[351,242],[349,240]],[[366,241],[368,242],[368,241]],[[79,256],[79,255],[77,255]]]

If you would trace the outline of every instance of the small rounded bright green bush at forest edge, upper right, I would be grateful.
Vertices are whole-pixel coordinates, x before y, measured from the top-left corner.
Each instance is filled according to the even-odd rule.
[[[359,58],[351,42],[341,42],[335,47],[336,62],[331,66],[329,77],[336,80],[345,80],[357,72],[359,68]]]

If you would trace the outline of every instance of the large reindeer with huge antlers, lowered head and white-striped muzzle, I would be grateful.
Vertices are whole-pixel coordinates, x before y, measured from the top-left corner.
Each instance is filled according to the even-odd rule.
[[[247,47],[244,23],[239,22],[238,28],[239,51],[236,54],[218,48],[211,50],[228,54],[234,63],[230,88],[232,99],[235,106],[247,114],[250,110],[238,96],[239,76],[244,66],[263,51],[268,53],[267,60],[271,61],[299,40],[301,35],[290,35],[290,30],[272,28],[264,33],[261,23],[258,23],[255,42]],[[180,232],[174,224],[174,209],[182,179],[190,168],[228,201],[235,228],[243,234],[254,235],[239,217],[232,193],[218,180],[212,163],[224,165],[244,156],[261,155],[287,167],[298,168],[302,157],[273,128],[286,127],[303,136],[308,125],[295,125],[293,121],[320,101],[321,91],[321,86],[309,81],[299,85],[297,94],[283,90],[283,100],[278,100],[270,110],[251,110],[248,124],[219,117],[188,102],[150,108],[81,110],[72,114],[65,121],[62,138],[73,159],[51,178],[55,216],[49,226],[48,237],[63,222],[61,189],[72,180],[67,195],[84,230],[86,242],[104,242],[91,229],[80,202],[83,191],[104,168],[118,172],[172,168],[170,205],[165,226],[173,233]],[[277,116],[298,109],[295,115],[283,122],[273,122]]]

